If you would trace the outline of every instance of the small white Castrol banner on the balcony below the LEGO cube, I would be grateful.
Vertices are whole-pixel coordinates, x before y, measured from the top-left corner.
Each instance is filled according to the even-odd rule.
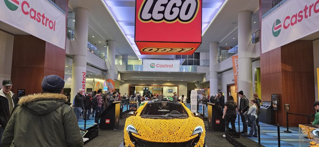
[[[143,71],[180,72],[180,60],[143,60]]]

